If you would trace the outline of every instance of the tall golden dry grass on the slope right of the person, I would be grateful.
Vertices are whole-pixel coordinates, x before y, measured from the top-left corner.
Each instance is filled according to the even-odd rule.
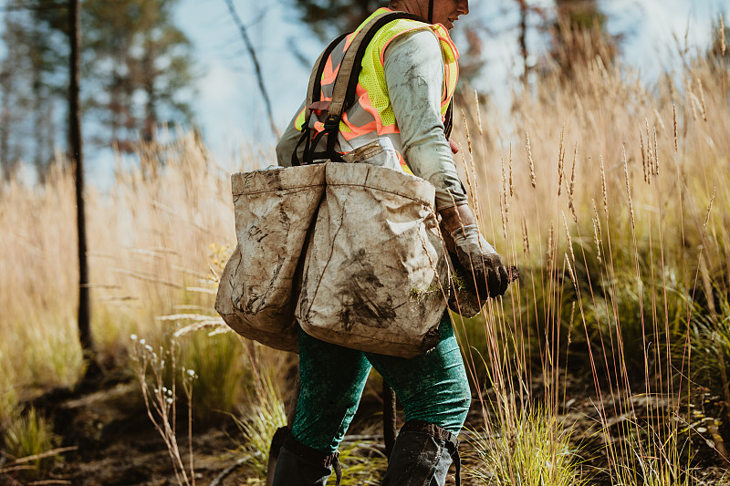
[[[698,408],[707,389],[730,403],[729,101],[721,62],[697,57],[647,86],[597,58],[569,84],[551,75],[517,94],[508,123],[465,109],[464,180],[524,275],[481,319],[457,320],[477,437],[493,438],[474,441],[474,477],[576,483],[575,463],[605,456],[591,481],[691,484],[698,451],[727,463],[726,407],[709,420]],[[573,466],[567,375],[593,382],[596,412],[581,434],[594,449]],[[521,437],[530,427],[551,430],[541,446]],[[548,459],[526,463],[535,453]]]

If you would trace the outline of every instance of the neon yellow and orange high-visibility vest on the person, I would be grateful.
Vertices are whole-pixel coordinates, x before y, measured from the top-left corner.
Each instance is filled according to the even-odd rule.
[[[376,10],[365,22],[360,24],[358,29],[346,36],[329,55],[327,64],[321,80],[321,100],[330,101],[335,86],[335,80],[339,72],[339,64],[342,62],[345,52],[352,40],[360,32],[360,29],[367,25],[375,16],[381,16],[391,12],[391,9],[382,7]],[[395,115],[391,106],[391,98],[388,96],[388,88],[385,84],[384,53],[385,49],[398,36],[417,31],[431,30],[438,38],[441,45],[443,57],[443,96],[441,102],[442,121],[445,121],[449,104],[454,97],[456,81],[459,77],[457,60],[459,51],[454,46],[448,31],[441,24],[429,25],[411,19],[398,19],[383,26],[373,37],[368,45],[365,56],[362,59],[362,70],[358,78],[356,90],[357,101],[343,114],[339,122],[339,151],[346,153],[356,150],[380,138],[391,140],[393,148],[398,153],[401,169],[412,173],[401,155],[401,135],[396,124]],[[295,119],[295,128],[301,131],[304,128],[307,108],[303,109]],[[313,111],[308,127],[311,130],[312,138],[324,130],[324,118],[321,114]]]

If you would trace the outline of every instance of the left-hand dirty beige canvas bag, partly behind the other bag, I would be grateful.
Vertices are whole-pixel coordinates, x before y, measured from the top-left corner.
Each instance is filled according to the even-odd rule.
[[[325,184],[322,164],[231,176],[237,245],[215,310],[241,336],[297,352],[297,265]]]

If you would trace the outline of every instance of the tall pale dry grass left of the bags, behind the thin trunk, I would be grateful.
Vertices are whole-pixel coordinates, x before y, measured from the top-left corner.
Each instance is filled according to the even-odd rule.
[[[102,357],[124,360],[131,334],[161,343],[175,323],[158,316],[212,310],[213,253],[235,241],[228,175],[255,169],[259,153],[213,160],[193,134],[178,134],[138,157],[119,156],[108,191],[91,181],[92,330]],[[20,394],[73,385],[82,366],[74,182],[65,165],[58,160],[43,186],[0,183],[0,419]]]

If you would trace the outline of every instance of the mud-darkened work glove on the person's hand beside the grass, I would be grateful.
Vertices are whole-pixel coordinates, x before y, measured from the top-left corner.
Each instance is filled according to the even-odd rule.
[[[466,270],[466,284],[471,287],[475,282],[476,292],[481,299],[504,295],[509,285],[507,270],[502,258],[491,244],[486,243],[476,224],[459,227],[451,236],[456,258]]]

